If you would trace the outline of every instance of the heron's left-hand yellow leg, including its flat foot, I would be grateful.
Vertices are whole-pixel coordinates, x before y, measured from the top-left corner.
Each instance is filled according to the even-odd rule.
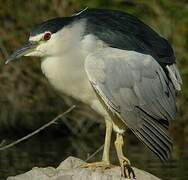
[[[111,120],[105,119],[106,123],[106,134],[105,134],[105,142],[103,149],[103,156],[101,162],[94,163],[86,163],[81,165],[83,168],[102,168],[107,169],[111,167],[110,164],[110,143],[111,143],[111,134],[112,134],[112,122]]]

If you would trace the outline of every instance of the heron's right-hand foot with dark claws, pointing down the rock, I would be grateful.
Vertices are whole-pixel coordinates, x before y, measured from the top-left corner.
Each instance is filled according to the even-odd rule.
[[[121,158],[121,176],[128,179],[136,179],[133,168],[131,167],[130,161],[126,157]]]

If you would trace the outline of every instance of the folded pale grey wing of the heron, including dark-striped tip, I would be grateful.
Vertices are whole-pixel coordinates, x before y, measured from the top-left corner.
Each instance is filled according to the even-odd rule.
[[[161,160],[167,160],[175,89],[161,66],[150,55],[105,48],[86,58],[85,70],[107,107]]]

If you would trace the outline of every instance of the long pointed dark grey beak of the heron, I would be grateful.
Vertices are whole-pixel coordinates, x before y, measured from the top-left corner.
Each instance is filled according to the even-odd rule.
[[[21,48],[16,49],[6,60],[5,64],[8,64],[10,61],[18,59],[32,51],[36,48],[37,44],[34,42],[27,42]]]

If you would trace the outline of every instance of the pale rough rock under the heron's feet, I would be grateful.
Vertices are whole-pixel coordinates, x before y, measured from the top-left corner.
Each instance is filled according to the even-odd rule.
[[[57,168],[34,167],[24,174],[8,177],[7,180],[126,180],[121,177],[118,166],[102,171],[80,168],[79,166],[83,163],[84,161],[78,158],[68,157]],[[133,169],[137,180],[160,180],[150,173],[137,168]]]

